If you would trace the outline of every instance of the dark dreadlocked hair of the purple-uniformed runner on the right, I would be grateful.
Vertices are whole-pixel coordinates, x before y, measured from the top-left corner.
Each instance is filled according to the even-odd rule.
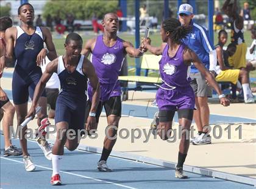
[[[171,40],[177,44],[180,44],[181,40],[185,38],[192,29],[191,26],[182,26],[180,21],[175,18],[165,19],[162,26],[165,32],[170,32]]]

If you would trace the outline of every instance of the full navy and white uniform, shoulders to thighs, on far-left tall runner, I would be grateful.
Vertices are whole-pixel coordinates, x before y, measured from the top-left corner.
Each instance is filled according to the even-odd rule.
[[[38,81],[41,78],[41,67],[37,66],[37,55],[43,49],[43,32],[36,27],[32,35],[28,35],[16,27],[17,36],[14,47],[15,69],[12,79],[13,103],[20,105],[26,103],[29,97],[32,99]],[[42,94],[46,97],[45,92]]]

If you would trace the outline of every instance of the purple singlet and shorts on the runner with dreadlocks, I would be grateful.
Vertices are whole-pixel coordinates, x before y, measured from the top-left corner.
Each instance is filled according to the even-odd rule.
[[[159,62],[163,84],[157,91],[156,100],[160,110],[194,109],[194,92],[190,86],[190,69],[183,63],[184,44],[180,44],[174,57],[169,57],[166,44]]]

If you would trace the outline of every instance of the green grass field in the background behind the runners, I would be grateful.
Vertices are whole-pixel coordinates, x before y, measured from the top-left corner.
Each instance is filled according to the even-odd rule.
[[[84,33],[81,33],[81,35],[83,37],[83,40],[84,40],[84,44],[89,39],[95,37],[94,35],[83,35],[83,34]],[[215,34],[214,44],[217,44],[218,43],[218,33],[215,32],[214,34]],[[133,46],[135,46],[135,35],[130,35],[130,34],[127,34],[127,33],[121,33],[118,36],[119,36],[119,38],[122,38],[123,40],[130,41],[130,43],[132,43]],[[141,36],[143,36],[143,35],[141,35]],[[161,39],[160,33],[153,33],[153,34],[150,35],[150,38],[152,40],[152,43],[151,43],[152,46],[160,46],[160,44],[162,44],[162,39]],[[249,32],[249,31],[244,32],[244,40],[246,41],[247,47],[251,46],[251,43],[252,43],[251,32]],[[65,43],[65,38],[54,39],[54,44],[55,44],[55,47],[57,49],[57,53],[59,55],[63,55],[63,53],[65,52],[65,49],[64,49],[64,46],[63,46],[64,43]],[[141,61],[141,58],[140,58],[140,61]],[[128,63],[128,66],[135,67],[135,58],[131,58],[131,57],[127,56],[127,63]],[[134,74],[135,74],[135,70],[131,70],[129,72],[129,75],[134,75]],[[153,75],[158,75],[158,74],[157,73],[152,73],[150,75],[153,76]],[[253,72],[250,72],[250,77],[256,77],[256,70],[254,70]]]

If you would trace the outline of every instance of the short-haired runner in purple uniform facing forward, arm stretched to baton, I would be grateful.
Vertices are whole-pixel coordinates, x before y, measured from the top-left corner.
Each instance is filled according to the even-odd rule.
[[[96,117],[97,123],[104,106],[107,114],[108,136],[105,137],[101,159],[98,162],[99,171],[112,171],[107,167],[107,159],[110,155],[116,139],[119,119],[121,117],[121,87],[118,75],[121,70],[124,57],[128,53],[130,57],[141,57],[144,49],[135,49],[128,41],[121,40],[116,36],[118,30],[118,16],[115,13],[107,13],[102,21],[104,34],[88,40],[82,50],[82,55],[91,53],[91,62],[95,67],[96,74],[101,84],[101,101],[96,112],[90,112],[91,106],[91,84],[88,83],[87,109],[85,120],[88,116]],[[91,128],[87,126],[87,129]]]

